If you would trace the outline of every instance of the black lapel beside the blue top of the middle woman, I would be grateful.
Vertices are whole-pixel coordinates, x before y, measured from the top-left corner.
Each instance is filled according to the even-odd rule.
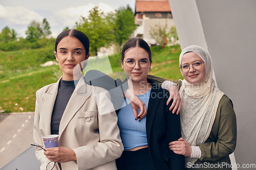
[[[151,89],[151,94],[150,94],[150,100],[148,101],[147,115],[146,115],[146,136],[147,136],[148,145],[150,145],[152,125],[154,122],[158,104],[160,102],[160,99],[157,98],[158,92],[159,92],[158,87],[155,84],[153,84]],[[152,98],[152,96],[153,97],[155,96],[155,98]]]

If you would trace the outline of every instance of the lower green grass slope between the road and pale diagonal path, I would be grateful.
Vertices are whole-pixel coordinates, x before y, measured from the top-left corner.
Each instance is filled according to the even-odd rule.
[[[54,83],[62,72],[58,66],[49,66],[0,83],[0,110],[25,112],[35,110],[35,92]]]

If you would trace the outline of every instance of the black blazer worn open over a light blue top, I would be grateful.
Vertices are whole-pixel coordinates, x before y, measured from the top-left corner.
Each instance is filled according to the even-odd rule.
[[[120,81],[116,81],[102,72],[97,72],[96,70],[92,71],[91,73],[93,73],[92,77],[94,77],[95,74],[97,77],[100,77],[90,81],[91,85],[110,90],[111,98],[116,98],[116,96],[121,95],[114,94],[113,91],[115,90],[111,90],[121,85],[122,83],[120,83]],[[148,152],[151,155],[156,169],[185,169],[184,156],[175,154],[169,149],[169,142],[178,140],[181,137],[180,115],[177,115],[176,113],[173,114],[173,110],[169,111],[169,107],[172,105],[173,100],[169,103],[169,105],[166,105],[169,98],[169,92],[160,88],[151,80],[147,79],[147,81],[148,83],[152,84],[146,116]],[[127,88],[127,85],[122,84],[121,86],[123,90]],[[116,105],[115,108],[118,108],[118,106]],[[119,110],[116,111],[117,114],[118,112]]]

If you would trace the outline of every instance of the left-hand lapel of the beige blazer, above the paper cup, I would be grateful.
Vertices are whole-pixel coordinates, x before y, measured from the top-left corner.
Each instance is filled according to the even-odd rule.
[[[53,111],[56,96],[58,93],[58,86],[59,86],[60,79],[57,81],[57,83],[54,84],[54,86],[51,89],[49,89],[46,93],[42,94],[44,98],[44,105],[42,106],[43,107],[42,114],[44,114],[45,116],[46,135],[51,134],[52,111]]]

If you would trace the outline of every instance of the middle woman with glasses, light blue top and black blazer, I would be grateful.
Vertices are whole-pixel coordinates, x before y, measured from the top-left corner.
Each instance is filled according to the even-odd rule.
[[[124,152],[116,160],[117,169],[184,169],[184,156],[169,150],[168,143],[181,137],[180,116],[169,110],[171,101],[167,90],[157,87],[147,79],[151,70],[151,50],[140,38],[125,42],[122,48],[121,65],[129,89],[142,100],[147,115],[134,119],[130,105],[117,111],[118,127]]]

